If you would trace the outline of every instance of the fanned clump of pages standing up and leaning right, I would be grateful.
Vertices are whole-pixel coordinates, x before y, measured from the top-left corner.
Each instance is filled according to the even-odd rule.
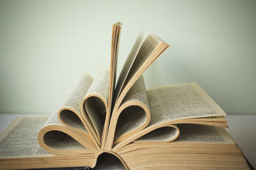
[[[148,66],[150,66],[150,64],[152,64],[152,62],[154,62],[154,60],[157,59],[157,57],[161,55],[161,53],[164,52],[164,50],[168,48],[166,43],[152,34],[148,35],[145,40],[141,38],[139,41],[136,41],[136,43],[138,43],[140,47],[136,45],[135,51],[131,52],[132,55],[131,57],[128,57],[127,64],[125,62],[125,66],[123,67],[118,82],[116,83],[113,115],[118,114],[120,104],[122,103],[125,95],[129,89],[131,89],[132,85],[138,80],[138,78],[140,78],[141,74],[147,69]],[[132,51],[133,50],[134,49],[132,49]],[[124,74],[124,77],[122,74]],[[115,116],[112,116],[111,119],[113,117]],[[110,125],[111,122],[109,126]],[[109,135],[111,134],[108,132],[108,139],[105,147],[106,150],[111,150],[113,146],[113,139],[111,138],[112,136],[109,138]]]

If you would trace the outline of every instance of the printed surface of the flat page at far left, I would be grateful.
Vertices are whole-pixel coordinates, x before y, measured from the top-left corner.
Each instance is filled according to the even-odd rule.
[[[51,155],[37,143],[37,133],[48,117],[19,117],[1,134],[0,158]],[[1,160],[0,160],[1,161]]]

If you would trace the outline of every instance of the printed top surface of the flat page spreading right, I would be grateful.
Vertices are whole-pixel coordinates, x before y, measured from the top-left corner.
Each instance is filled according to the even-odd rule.
[[[195,88],[196,87],[196,88]],[[225,115],[218,104],[209,101],[196,83],[170,85],[148,90],[150,125],[173,120]]]

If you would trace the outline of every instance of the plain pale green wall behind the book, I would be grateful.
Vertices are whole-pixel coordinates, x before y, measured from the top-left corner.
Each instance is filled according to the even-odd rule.
[[[79,73],[119,64],[141,30],[171,45],[147,87],[197,81],[228,114],[256,113],[256,1],[0,1],[0,113],[49,113]],[[118,67],[120,69],[120,66]]]

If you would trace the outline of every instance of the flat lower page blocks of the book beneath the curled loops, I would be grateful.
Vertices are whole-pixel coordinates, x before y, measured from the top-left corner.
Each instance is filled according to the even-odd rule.
[[[41,148],[36,136],[47,118],[47,115],[18,117],[1,134],[0,169],[95,167],[103,151],[55,155]],[[127,169],[249,169],[243,153],[225,129],[197,124],[178,127],[180,136],[173,142],[130,143],[114,155]]]

